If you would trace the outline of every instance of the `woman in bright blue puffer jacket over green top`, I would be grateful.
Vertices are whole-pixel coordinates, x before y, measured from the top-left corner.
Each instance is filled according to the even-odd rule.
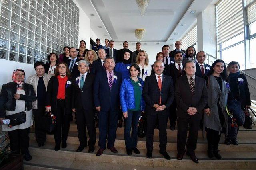
[[[142,98],[142,89],[144,82],[140,76],[140,67],[132,64],[129,68],[129,78],[125,78],[120,88],[120,102],[122,112],[125,118],[124,141],[126,152],[132,154],[132,150],[136,154],[140,154],[137,149],[137,132],[138,121],[141,112],[144,112],[145,102]],[[132,136],[130,135],[132,127]]]

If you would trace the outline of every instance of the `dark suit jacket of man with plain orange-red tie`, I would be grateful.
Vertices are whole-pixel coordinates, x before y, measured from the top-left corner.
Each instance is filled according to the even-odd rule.
[[[170,107],[174,100],[174,86],[172,82],[172,77],[163,74],[163,82],[161,91],[158,88],[158,83],[155,74],[147,76],[144,87],[143,87],[143,97],[146,102],[146,113],[149,115],[156,115],[157,111],[153,107],[154,104],[159,105],[159,99],[161,95],[161,104],[165,105],[166,109]]]

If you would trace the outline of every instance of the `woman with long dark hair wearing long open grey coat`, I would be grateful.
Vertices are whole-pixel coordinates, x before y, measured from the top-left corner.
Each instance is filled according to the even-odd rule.
[[[218,153],[221,133],[228,127],[228,113],[226,106],[230,92],[226,65],[223,60],[216,60],[206,76],[208,89],[208,103],[204,109],[204,125],[208,141],[208,157],[218,160],[222,156]]]

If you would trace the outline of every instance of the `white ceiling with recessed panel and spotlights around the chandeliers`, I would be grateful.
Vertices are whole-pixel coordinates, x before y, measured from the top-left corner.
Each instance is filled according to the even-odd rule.
[[[100,39],[137,42],[134,31],[146,30],[143,43],[172,44],[196,24],[196,18],[216,0],[150,0],[144,16],[136,0],[76,0]],[[191,14],[191,11],[196,11]],[[90,16],[94,14],[94,16]],[[81,18],[80,18],[81,19]],[[181,24],[185,23],[184,26]],[[102,28],[99,28],[101,26]]]

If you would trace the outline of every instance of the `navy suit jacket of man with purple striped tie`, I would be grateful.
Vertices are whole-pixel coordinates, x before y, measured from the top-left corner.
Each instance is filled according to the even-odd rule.
[[[100,106],[101,111],[118,111],[120,107],[119,91],[122,82],[122,76],[114,71],[114,82],[112,88],[109,88],[108,76],[105,71],[98,72],[94,80],[94,104]]]

